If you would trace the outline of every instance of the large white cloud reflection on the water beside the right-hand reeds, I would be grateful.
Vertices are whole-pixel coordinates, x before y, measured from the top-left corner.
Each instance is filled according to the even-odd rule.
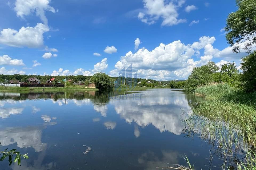
[[[111,100],[110,103],[127,123],[134,121],[140,127],[152,124],[161,132],[167,130],[177,135],[181,134],[183,129],[181,119],[185,118],[181,115],[181,111],[182,109],[191,111],[186,96],[181,92],[170,92],[169,89],[143,93],[145,95],[141,100],[128,98]]]

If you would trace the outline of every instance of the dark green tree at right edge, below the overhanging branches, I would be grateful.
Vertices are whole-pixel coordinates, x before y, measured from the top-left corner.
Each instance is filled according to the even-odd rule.
[[[256,52],[254,51],[249,56],[242,58],[241,80],[244,83],[245,90],[252,92],[256,90]]]

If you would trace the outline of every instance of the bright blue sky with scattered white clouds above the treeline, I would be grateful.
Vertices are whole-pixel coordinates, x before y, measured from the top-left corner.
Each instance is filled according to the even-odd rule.
[[[2,0],[0,74],[118,76],[133,63],[139,78],[172,80],[208,61],[239,67],[246,54],[221,30],[236,10],[235,0]]]

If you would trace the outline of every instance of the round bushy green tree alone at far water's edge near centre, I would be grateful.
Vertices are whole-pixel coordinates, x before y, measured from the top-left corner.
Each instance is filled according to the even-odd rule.
[[[96,73],[91,77],[91,80],[95,83],[95,87],[100,90],[113,88],[113,83],[106,73]]]

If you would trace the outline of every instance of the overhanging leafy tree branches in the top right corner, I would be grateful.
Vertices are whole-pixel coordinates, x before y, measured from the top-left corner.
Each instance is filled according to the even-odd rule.
[[[242,48],[250,53],[256,45],[256,1],[237,0],[237,6],[238,10],[227,18],[226,39],[233,52],[239,53]]]

